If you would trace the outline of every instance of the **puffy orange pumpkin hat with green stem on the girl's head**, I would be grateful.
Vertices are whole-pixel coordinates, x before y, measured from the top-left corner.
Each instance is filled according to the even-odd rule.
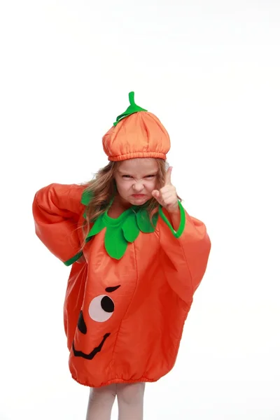
[[[166,160],[170,149],[167,130],[156,116],[135,104],[134,92],[130,92],[129,99],[130,106],[102,139],[108,159],[115,162],[134,158]]]

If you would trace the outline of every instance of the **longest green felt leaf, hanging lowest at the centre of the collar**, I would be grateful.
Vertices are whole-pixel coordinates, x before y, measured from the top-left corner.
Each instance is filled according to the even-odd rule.
[[[127,240],[121,226],[107,226],[104,245],[110,257],[120,260],[125,255]]]

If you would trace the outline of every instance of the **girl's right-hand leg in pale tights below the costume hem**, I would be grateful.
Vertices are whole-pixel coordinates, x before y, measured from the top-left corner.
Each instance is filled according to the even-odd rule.
[[[145,383],[118,384],[118,420],[143,420]]]

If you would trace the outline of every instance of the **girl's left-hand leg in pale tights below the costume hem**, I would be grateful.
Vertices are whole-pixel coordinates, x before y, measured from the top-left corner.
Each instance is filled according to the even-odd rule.
[[[86,420],[110,420],[116,398],[116,384],[90,388]]]

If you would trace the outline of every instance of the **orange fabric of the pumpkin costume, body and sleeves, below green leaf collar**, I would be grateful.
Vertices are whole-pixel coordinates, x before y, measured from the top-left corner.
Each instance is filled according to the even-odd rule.
[[[36,233],[60,260],[73,257],[83,240],[82,190],[52,184],[36,194]],[[207,267],[207,230],[186,213],[185,230],[176,239],[159,218],[155,232],[140,232],[120,260],[106,253],[104,231],[85,245],[86,262],[72,265],[66,288],[71,375],[92,387],[157,381],[176,361],[193,294]]]

